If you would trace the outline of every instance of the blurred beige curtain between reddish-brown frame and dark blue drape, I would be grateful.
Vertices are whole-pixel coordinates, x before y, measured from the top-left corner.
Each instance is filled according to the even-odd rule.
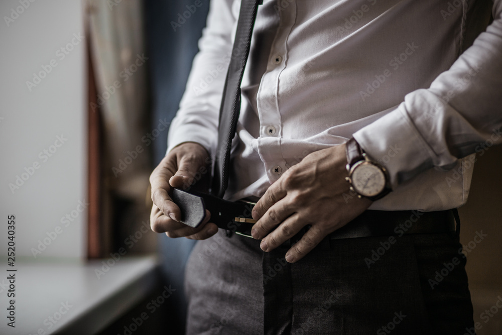
[[[89,113],[99,114],[103,138],[99,236],[89,236],[100,240],[101,250],[90,256],[109,257],[109,252],[126,247],[127,237],[141,231],[149,215],[145,199],[154,133],[149,125],[149,56],[140,0],[87,0],[86,5],[97,93]],[[143,236],[135,251],[152,249],[149,239],[155,242],[154,235]]]

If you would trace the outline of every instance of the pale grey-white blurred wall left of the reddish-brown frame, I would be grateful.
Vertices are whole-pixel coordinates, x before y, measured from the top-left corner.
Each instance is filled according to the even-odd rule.
[[[60,221],[86,200],[85,39],[75,38],[84,33],[83,7],[78,0],[30,1],[21,0],[26,9],[20,0],[0,2],[0,257],[7,256],[7,217],[14,214],[17,258],[34,260],[32,248],[58,226],[61,234],[36,260],[83,258],[86,211],[68,227]],[[68,54],[60,50],[66,45]],[[28,87],[43,66],[50,73]],[[58,136],[67,140],[56,148]],[[43,153],[54,149],[51,157]],[[17,176],[27,180],[13,193]]]

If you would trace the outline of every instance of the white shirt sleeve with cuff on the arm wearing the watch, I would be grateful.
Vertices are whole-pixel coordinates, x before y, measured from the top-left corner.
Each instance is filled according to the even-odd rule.
[[[393,188],[432,167],[502,143],[502,1],[493,22],[428,89],[405,96],[397,109],[353,134],[373,159],[402,150],[386,168]]]

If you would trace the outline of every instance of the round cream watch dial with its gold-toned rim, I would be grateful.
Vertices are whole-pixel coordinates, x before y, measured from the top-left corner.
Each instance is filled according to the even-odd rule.
[[[375,196],[385,188],[384,172],[376,165],[364,162],[352,172],[352,187],[364,196]]]

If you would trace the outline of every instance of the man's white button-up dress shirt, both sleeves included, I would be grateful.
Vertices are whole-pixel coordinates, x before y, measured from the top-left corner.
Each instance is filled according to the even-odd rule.
[[[168,151],[192,141],[215,152],[240,1],[210,6]],[[458,207],[467,155],[502,142],[502,0],[264,0],[241,87],[225,198],[260,197],[354,136],[391,177],[370,209]]]

